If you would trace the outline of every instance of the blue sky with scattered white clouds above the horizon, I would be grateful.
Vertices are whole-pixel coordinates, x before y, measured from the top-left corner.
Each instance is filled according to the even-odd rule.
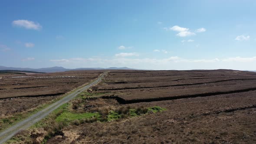
[[[0,65],[256,70],[255,0],[1,0]]]

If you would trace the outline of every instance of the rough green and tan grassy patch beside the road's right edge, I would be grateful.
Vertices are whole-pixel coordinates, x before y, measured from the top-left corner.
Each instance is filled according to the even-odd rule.
[[[100,98],[104,94],[106,93],[81,92],[75,99],[60,106],[47,118],[36,123],[30,128],[30,132],[26,131],[26,133],[17,134],[8,143],[26,141],[27,143],[43,142],[44,144],[50,144],[51,142],[56,142],[53,141],[54,137],[64,136],[63,128],[72,127],[72,125],[122,121],[166,110],[159,106],[144,108],[143,106],[131,107],[115,105],[114,103],[109,104],[109,100]]]

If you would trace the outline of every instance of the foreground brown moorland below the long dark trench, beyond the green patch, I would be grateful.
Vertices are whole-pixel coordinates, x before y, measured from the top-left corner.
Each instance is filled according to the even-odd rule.
[[[254,144],[256,141],[256,92],[179,100],[126,104],[130,107],[166,108],[166,111],[121,119],[70,125],[63,136],[47,144],[145,143],[145,144]],[[105,101],[118,107],[114,101]],[[102,107],[102,106],[101,106]]]

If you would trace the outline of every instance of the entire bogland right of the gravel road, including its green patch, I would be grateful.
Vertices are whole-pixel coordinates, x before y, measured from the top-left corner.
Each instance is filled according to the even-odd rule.
[[[51,120],[38,124],[38,129],[28,132],[31,137],[37,131],[37,136],[28,141],[256,143],[254,72],[111,70],[93,89],[69,102]],[[156,106],[164,110],[154,112]],[[96,116],[90,119],[89,115]],[[59,128],[56,121],[70,123]],[[40,127],[43,124],[53,125]],[[49,131],[56,125],[58,131]]]

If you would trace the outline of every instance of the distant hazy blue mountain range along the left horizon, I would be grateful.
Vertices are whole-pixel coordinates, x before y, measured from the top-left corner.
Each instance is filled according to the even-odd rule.
[[[0,66],[0,70],[20,70],[20,71],[34,71],[34,72],[65,72],[65,71],[74,71],[74,70],[100,70],[104,68],[76,68],[76,69],[66,69],[61,66],[54,66],[50,68],[40,68],[40,69],[32,69],[32,68],[14,68],[14,67],[6,67]],[[128,67],[110,67],[106,69],[131,69]],[[131,70],[138,70],[138,69],[131,69]]]

